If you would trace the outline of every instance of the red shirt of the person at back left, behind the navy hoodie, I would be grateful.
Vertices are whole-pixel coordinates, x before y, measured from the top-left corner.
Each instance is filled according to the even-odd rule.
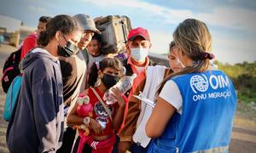
[[[32,49],[38,46],[37,43],[38,40],[38,34],[37,32],[33,32],[32,34],[28,35],[24,41],[23,41],[23,45],[22,45],[22,49],[21,49],[21,55],[20,55],[20,60],[22,60],[26,54]]]

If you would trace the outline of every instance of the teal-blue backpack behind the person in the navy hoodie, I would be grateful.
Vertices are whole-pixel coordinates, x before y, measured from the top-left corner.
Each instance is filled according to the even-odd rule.
[[[3,108],[3,119],[9,122],[15,105],[19,99],[20,87],[21,87],[22,77],[21,75],[15,77],[14,81],[11,83],[8,92],[5,96],[4,108]]]

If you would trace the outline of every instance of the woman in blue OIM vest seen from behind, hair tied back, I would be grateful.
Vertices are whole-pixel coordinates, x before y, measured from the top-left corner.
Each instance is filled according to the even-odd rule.
[[[157,92],[146,133],[148,152],[228,152],[236,111],[235,89],[223,71],[212,67],[212,37],[205,23],[184,20],[173,32],[183,65]]]

